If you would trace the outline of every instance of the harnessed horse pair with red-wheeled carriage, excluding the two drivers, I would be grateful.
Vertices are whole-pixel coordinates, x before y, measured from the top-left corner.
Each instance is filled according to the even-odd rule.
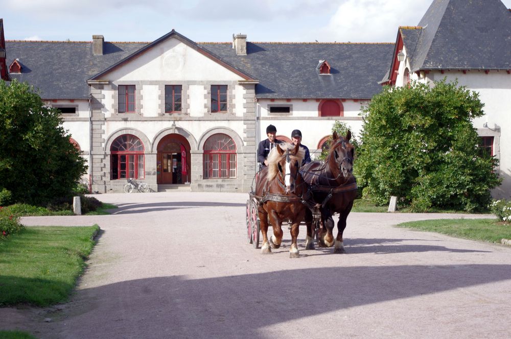
[[[334,246],[334,253],[344,253],[342,232],[346,218],[357,195],[352,175],[354,148],[351,133],[338,137],[334,132],[329,154],[324,162],[300,166],[303,150],[292,144],[275,148],[268,156],[255,180],[255,190],[249,192],[246,204],[248,243],[259,247],[263,236],[263,253],[279,248],[282,243],[282,223],[288,221],[291,230],[290,257],[298,257],[296,245],[299,225],[305,221],[305,249],[314,249],[314,238],[320,247]],[[337,237],[333,236],[333,214],[339,213]],[[267,237],[268,222],[273,235]]]

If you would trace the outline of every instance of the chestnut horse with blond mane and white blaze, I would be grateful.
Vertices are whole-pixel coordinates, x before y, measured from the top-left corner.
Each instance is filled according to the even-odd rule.
[[[301,202],[307,193],[307,184],[298,172],[305,152],[293,144],[283,144],[274,148],[268,155],[268,167],[263,167],[255,183],[255,196],[260,199],[258,208],[263,234],[262,253],[271,253],[282,243],[282,222],[290,220],[291,249],[289,256],[299,256],[296,239],[299,225],[304,220],[306,206]],[[273,227],[273,235],[268,240],[268,220]]]

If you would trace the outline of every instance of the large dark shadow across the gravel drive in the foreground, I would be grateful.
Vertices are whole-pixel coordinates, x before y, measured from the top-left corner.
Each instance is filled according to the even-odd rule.
[[[171,263],[169,263],[171,264]],[[207,264],[200,266],[207,270]],[[284,270],[187,279],[158,277],[79,290],[60,321],[31,329],[43,338],[265,338],[264,328],[360,305],[511,279],[511,265],[396,265]],[[456,302],[462,302],[456,300]],[[329,319],[329,317],[326,317]]]

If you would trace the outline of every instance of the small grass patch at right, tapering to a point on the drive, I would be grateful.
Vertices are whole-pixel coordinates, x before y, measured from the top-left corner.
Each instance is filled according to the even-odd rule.
[[[437,232],[489,243],[500,244],[501,239],[511,239],[511,224],[504,224],[496,219],[424,220],[402,223],[398,227]]]

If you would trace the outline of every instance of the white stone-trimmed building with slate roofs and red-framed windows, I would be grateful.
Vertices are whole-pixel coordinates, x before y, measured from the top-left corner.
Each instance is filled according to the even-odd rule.
[[[300,129],[314,153],[335,120],[359,135],[361,108],[381,83],[457,78],[485,103],[474,125],[500,159],[495,195],[509,198],[510,15],[500,0],[435,0],[419,26],[399,28],[395,44],[241,34],[197,43],[171,31],[150,43],[8,40],[4,61],[10,78],[61,109],[99,192],[119,191],[130,177],[153,190],[247,192],[267,125],[281,139]]]

